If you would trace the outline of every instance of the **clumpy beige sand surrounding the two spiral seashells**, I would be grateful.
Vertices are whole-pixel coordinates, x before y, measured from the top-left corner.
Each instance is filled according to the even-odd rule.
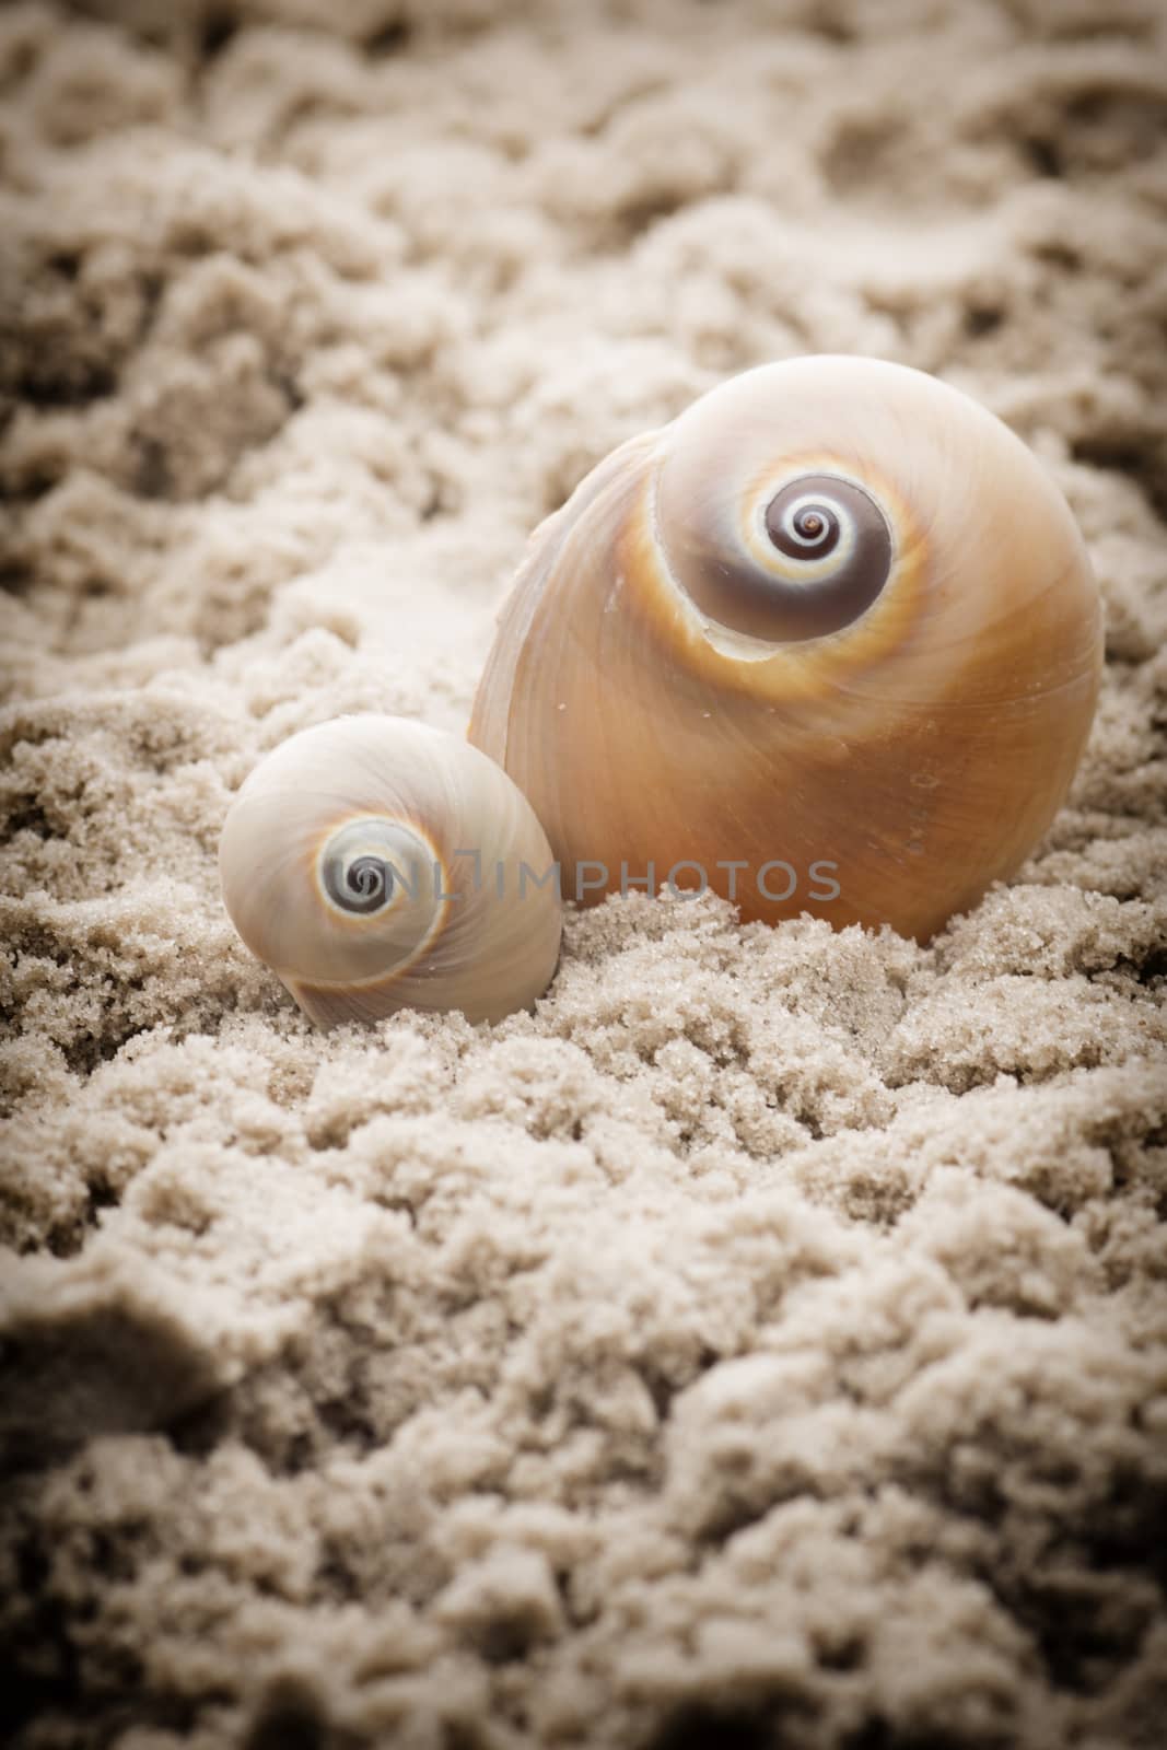
[[[1164,1743],[1165,19],[0,10],[7,1741]],[[460,730],[584,469],[821,350],[1081,522],[1039,854],[929,948],[633,898],[535,1015],[313,1032],[243,775]]]

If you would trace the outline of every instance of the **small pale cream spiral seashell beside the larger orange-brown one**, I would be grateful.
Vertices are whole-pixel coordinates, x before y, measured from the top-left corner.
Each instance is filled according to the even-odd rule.
[[[406,718],[338,718],[268,754],[219,842],[240,936],[311,1020],[499,1020],[546,990],[562,905],[506,772]]]

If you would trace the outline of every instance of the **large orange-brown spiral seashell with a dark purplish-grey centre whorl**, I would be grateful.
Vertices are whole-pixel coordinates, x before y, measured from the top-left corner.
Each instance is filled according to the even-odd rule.
[[[532,537],[471,740],[567,898],[707,884],[927,940],[1036,847],[1101,607],[1029,450],[903,366],[763,366],[633,438]]]

